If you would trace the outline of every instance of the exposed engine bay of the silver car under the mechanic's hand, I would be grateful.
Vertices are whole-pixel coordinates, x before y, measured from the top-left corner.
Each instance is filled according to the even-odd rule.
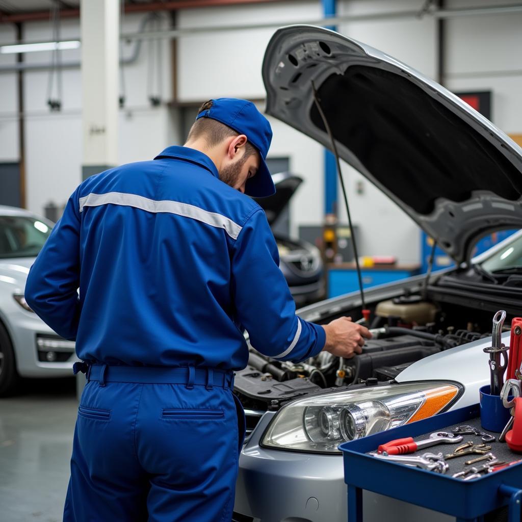
[[[281,362],[250,348],[248,365],[236,373],[235,393],[245,408],[279,409],[283,402],[324,389],[388,383],[410,364],[465,343],[491,336],[491,313],[408,293],[370,305],[373,338],[351,359],[329,352],[301,363]],[[338,310],[326,324],[360,310]],[[306,317],[305,317],[306,318]]]

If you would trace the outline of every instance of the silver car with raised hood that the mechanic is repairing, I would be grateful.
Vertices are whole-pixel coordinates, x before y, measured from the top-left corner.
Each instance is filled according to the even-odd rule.
[[[366,291],[374,337],[353,359],[324,352],[281,363],[251,348],[236,375],[248,436],[234,520],[346,522],[340,443],[474,404],[489,383],[482,348],[491,346],[493,315],[506,310],[507,326],[522,311],[522,231],[477,258],[470,252],[485,234],[522,228],[522,150],[434,81],[326,29],[278,30],[263,78],[267,112],[330,147],[316,90],[340,158],[456,266]],[[359,319],[360,295],[299,315]],[[450,520],[369,492],[364,502],[368,520]]]

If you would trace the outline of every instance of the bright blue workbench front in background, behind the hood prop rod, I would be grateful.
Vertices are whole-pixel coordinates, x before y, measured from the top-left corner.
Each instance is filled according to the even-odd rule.
[[[364,288],[375,287],[378,284],[392,283],[399,279],[416,276],[420,266],[407,267],[374,267],[362,268],[361,277]],[[352,265],[330,265],[328,267],[328,297],[336,297],[359,290],[357,270]]]

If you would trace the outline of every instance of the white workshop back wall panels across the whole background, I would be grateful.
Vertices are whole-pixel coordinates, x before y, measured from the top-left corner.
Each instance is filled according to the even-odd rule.
[[[494,6],[516,0],[447,0],[447,8]],[[338,0],[338,13],[357,15],[391,10],[417,10],[419,0]],[[126,16],[124,31],[132,32],[145,15]],[[288,23],[321,18],[319,0],[183,9],[177,13],[180,27],[222,26],[235,23]],[[165,26],[168,25],[165,19]],[[351,21],[338,30],[373,45],[433,77],[436,67],[435,21],[389,19]],[[266,44],[274,29],[209,32],[184,35],[177,45],[177,91],[179,101],[200,102],[212,97],[235,96],[263,99],[260,75]],[[79,35],[78,20],[64,20],[62,33]],[[49,39],[47,22],[26,24],[25,39]],[[12,42],[14,31],[0,25],[0,42]],[[522,14],[463,17],[446,22],[446,86],[452,90],[492,90],[493,122],[508,133],[522,133]],[[170,99],[172,77],[170,44],[163,42],[164,97]],[[125,46],[128,56],[130,48]],[[28,60],[49,60],[47,53],[26,55]],[[177,133],[176,111],[165,106],[150,108],[147,101],[147,44],[136,64],[126,68],[127,106],[120,112],[119,161],[153,157],[169,144],[182,139]],[[63,60],[79,57],[66,51]],[[0,64],[14,56],[0,55]],[[45,105],[48,73],[26,75],[28,205],[42,211],[54,199],[65,201],[80,180],[80,73],[65,70],[63,111],[50,114]],[[0,74],[0,161],[18,156],[16,122],[16,77]],[[259,103],[263,109],[263,102]],[[288,156],[291,169],[301,174],[300,187],[291,208],[294,233],[299,224],[319,224],[323,220],[323,148],[292,128],[271,118],[274,140],[272,156]],[[392,201],[379,193],[347,165],[343,165],[352,217],[361,230],[361,253],[396,255],[400,262],[420,258],[417,226]],[[355,186],[363,182],[363,194]],[[345,219],[339,190],[341,220]]]

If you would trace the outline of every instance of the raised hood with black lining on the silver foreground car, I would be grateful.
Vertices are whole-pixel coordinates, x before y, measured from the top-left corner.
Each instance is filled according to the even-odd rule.
[[[331,149],[404,209],[457,263],[494,230],[522,228],[522,149],[468,104],[341,34],[290,26],[263,62],[266,112]]]

